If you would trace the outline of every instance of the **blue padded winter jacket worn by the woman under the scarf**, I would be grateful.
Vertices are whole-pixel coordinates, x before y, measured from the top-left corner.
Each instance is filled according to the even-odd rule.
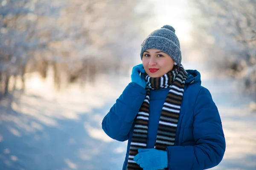
[[[186,80],[175,146],[166,148],[169,170],[204,170],[220,163],[226,148],[221,118],[210,92],[201,86],[196,70],[186,70]],[[169,88],[151,90],[149,103],[147,148],[153,148],[158,122]],[[128,140],[123,170],[128,163],[129,147],[134,130],[134,118],[146,95],[146,90],[129,83],[102,121],[102,129],[112,139]],[[156,160],[157,161],[157,160]]]

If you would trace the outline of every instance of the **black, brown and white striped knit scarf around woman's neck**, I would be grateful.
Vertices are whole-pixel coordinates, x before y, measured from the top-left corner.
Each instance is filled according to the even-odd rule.
[[[187,73],[182,65],[179,67],[175,65],[172,71],[169,71],[162,77],[152,78],[145,75],[145,79],[147,82],[147,93],[139,113],[135,118],[127,170],[143,170],[133,159],[137,155],[138,149],[146,148],[147,146],[150,89],[171,88],[161,112],[154,148],[157,150],[166,150],[167,146],[174,146]]]

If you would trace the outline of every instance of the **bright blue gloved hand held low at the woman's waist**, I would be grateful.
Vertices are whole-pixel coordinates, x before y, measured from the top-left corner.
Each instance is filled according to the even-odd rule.
[[[143,170],[161,170],[168,167],[167,151],[157,149],[139,149],[138,154],[134,156]]]

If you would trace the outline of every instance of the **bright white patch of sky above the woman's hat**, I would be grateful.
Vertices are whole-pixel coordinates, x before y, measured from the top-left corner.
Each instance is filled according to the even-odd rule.
[[[150,0],[155,8],[156,27],[150,28],[148,32],[161,28],[164,25],[171,25],[175,28],[175,33],[183,43],[191,40],[189,31],[192,23],[189,17],[193,8],[189,5],[189,0]],[[155,22],[155,21],[154,21]]]

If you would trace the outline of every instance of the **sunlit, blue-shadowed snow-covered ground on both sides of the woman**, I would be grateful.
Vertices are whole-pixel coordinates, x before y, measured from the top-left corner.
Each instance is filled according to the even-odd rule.
[[[189,65],[188,65],[189,66]],[[185,67],[188,68],[188,67]],[[221,114],[227,149],[214,170],[256,170],[256,113],[230,79],[200,70]],[[54,91],[51,79],[32,76],[19,101],[0,106],[1,170],[120,170],[127,142],[105,135],[101,122],[130,77]]]

